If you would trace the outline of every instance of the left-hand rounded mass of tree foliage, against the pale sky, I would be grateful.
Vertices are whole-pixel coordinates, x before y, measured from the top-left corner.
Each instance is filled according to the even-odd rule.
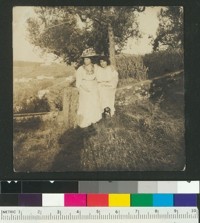
[[[29,41],[46,53],[54,53],[65,62],[77,59],[85,48],[84,32],[75,16],[62,7],[37,7],[37,17],[27,20]]]

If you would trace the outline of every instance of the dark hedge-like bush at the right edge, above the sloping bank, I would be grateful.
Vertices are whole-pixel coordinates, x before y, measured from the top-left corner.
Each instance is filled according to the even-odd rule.
[[[183,53],[166,50],[146,54],[144,65],[148,67],[148,77],[153,78],[173,71],[183,69]]]

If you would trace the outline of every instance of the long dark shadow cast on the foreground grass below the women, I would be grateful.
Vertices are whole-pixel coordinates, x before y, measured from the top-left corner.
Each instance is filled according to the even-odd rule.
[[[95,134],[93,126],[65,131],[58,139],[60,151],[55,156],[50,171],[81,171],[81,150],[84,149],[85,141]]]

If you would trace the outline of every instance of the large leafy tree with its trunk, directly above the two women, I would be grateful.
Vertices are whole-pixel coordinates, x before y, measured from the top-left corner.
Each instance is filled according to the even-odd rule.
[[[145,7],[67,6],[35,8],[37,18],[28,19],[30,42],[53,52],[67,63],[77,61],[85,48],[109,54],[115,65],[129,37],[139,37],[137,12]]]

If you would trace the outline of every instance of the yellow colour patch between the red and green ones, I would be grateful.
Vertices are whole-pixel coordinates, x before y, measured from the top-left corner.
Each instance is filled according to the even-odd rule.
[[[130,194],[109,194],[109,207],[130,207]]]

